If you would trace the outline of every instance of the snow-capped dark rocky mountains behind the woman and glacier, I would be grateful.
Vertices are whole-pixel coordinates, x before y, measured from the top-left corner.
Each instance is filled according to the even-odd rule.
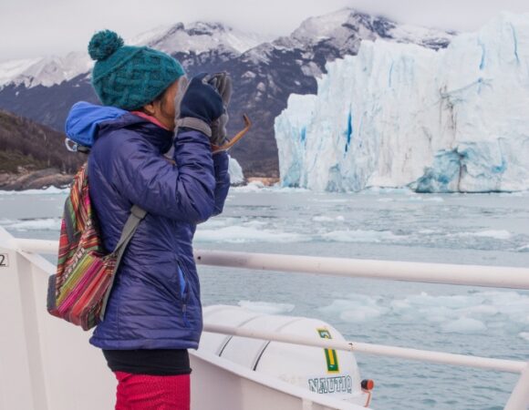
[[[451,32],[402,26],[383,17],[343,9],[307,19],[292,35],[266,42],[222,24],[161,27],[132,40],[177,57],[189,74],[228,71],[234,95],[229,131],[254,119],[251,134],[233,149],[248,176],[278,176],[274,119],[292,93],[316,93],[316,77],[336,58],[356,55],[363,39],[414,43],[437,50]],[[97,102],[89,85],[86,55],[47,57],[0,64],[0,108],[62,129],[79,99]]]

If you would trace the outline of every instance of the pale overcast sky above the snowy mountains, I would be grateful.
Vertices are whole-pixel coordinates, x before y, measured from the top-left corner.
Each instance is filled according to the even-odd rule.
[[[125,38],[177,22],[220,21],[287,35],[306,18],[343,7],[399,22],[471,31],[501,11],[529,12],[528,0],[0,0],[0,61],[85,50],[102,28]]]

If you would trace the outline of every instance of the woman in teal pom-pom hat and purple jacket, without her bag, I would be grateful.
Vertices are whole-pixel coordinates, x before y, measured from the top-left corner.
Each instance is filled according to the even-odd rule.
[[[123,46],[110,31],[93,36],[88,51],[105,107],[85,103],[67,124],[94,133],[89,194],[107,250],[132,205],[147,211],[90,343],[103,349],[118,379],[116,409],[189,409],[187,349],[198,347],[202,332],[192,237],[197,223],[223,210],[230,183],[227,154],[213,155],[210,140],[223,101],[203,76],[193,78],[180,106],[184,127],[173,140],[180,63],[148,47]],[[163,155],[171,147],[173,161]]]

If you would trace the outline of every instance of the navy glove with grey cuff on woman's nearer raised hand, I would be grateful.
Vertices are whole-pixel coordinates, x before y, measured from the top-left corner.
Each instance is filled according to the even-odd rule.
[[[179,127],[194,128],[212,136],[212,122],[223,114],[223,98],[208,83],[206,73],[193,77],[180,104]]]

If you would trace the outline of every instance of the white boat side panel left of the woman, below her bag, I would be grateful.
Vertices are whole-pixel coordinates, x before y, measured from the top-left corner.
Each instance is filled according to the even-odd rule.
[[[48,243],[45,243],[48,242]],[[47,313],[47,280],[56,266],[30,253],[57,241],[29,241],[27,249],[0,227],[0,409],[109,409],[115,377],[89,333]]]

